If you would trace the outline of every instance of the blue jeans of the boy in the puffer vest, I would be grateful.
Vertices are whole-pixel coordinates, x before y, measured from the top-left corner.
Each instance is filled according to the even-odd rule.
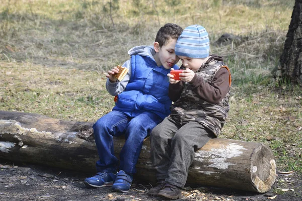
[[[93,132],[99,154],[96,162],[98,172],[115,172],[118,159],[114,156],[113,137],[125,135],[125,144],[119,154],[119,170],[136,173],[137,163],[144,138],[163,119],[149,112],[129,117],[119,111],[112,111],[101,117],[94,125]]]

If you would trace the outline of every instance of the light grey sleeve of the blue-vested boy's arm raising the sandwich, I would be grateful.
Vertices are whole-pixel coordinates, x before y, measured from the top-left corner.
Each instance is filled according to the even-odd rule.
[[[130,80],[131,76],[131,59],[127,60],[123,65],[129,69],[122,81],[111,82],[108,78],[106,81],[106,89],[110,95],[118,95],[123,92]]]

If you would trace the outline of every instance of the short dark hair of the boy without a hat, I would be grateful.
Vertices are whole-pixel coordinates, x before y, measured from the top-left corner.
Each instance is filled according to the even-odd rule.
[[[160,47],[166,45],[170,39],[178,39],[183,29],[172,23],[167,23],[158,31],[155,42],[160,44]]]

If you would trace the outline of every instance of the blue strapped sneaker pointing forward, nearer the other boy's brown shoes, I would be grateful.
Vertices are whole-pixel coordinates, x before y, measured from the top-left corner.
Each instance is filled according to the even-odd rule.
[[[112,190],[116,192],[128,192],[133,181],[133,176],[120,170],[116,174],[115,181],[112,185]]]

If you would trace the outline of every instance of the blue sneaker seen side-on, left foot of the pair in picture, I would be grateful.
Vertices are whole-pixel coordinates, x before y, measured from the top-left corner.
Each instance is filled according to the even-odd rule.
[[[93,177],[86,178],[84,180],[85,185],[93,187],[105,187],[112,186],[115,180],[116,174],[109,172],[98,172]]]

